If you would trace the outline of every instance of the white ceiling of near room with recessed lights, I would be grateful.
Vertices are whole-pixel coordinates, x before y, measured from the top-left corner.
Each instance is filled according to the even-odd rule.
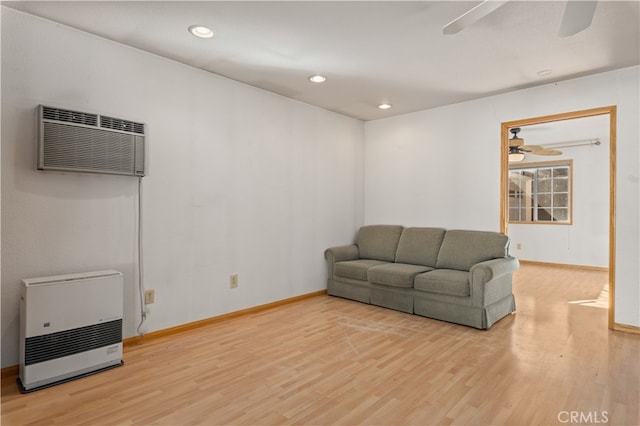
[[[373,120],[638,65],[640,2],[597,4],[558,36],[564,1],[3,1],[2,4],[350,117]],[[197,39],[187,28],[210,27]],[[542,70],[550,74],[539,75]],[[309,82],[312,74],[327,77]],[[389,110],[377,105],[392,104]]]

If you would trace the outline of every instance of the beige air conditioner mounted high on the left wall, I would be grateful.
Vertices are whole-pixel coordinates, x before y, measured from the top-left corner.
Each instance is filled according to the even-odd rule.
[[[145,175],[145,126],[106,115],[38,106],[38,169]]]

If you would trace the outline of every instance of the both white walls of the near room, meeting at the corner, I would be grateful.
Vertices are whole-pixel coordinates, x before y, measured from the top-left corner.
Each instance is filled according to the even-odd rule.
[[[147,331],[323,289],[323,250],[363,222],[498,230],[500,123],[617,105],[615,321],[640,326],[639,67],[363,125],[1,11],[2,366],[22,278],[121,270],[125,335],[138,322],[136,181],[36,171],[39,103],[148,125]]]

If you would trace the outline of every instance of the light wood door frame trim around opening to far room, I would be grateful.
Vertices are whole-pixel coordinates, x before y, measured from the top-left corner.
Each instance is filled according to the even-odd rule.
[[[500,231],[509,231],[509,137],[513,135],[510,129],[526,128],[541,124],[551,124],[576,120],[587,117],[608,117],[608,281],[609,281],[609,312],[608,325],[615,328],[615,170],[616,170],[616,107],[607,106],[589,110],[574,111],[562,114],[547,115],[503,122],[501,127],[501,172],[500,172]]]

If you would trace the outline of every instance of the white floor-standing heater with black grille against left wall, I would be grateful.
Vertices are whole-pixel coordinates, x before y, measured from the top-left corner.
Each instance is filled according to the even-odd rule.
[[[22,280],[20,391],[122,365],[122,273]]]

